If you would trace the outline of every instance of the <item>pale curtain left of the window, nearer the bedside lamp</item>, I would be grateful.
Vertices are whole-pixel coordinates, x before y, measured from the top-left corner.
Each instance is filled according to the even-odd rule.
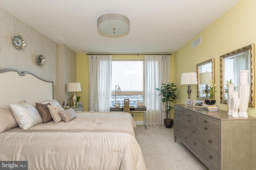
[[[89,111],[109,111],[112,55],[89,55]]]

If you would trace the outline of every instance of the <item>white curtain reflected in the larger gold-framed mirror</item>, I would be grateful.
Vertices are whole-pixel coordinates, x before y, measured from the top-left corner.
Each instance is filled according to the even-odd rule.
[[[233,70],[234,70],[234,81],[235,87],[240,83],[240,70],[248,70],[249,66],[249,51],[238,54],[233,57]]]

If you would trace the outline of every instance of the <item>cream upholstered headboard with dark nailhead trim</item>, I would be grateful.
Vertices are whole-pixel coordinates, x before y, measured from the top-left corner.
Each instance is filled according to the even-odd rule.
[[[32,72],[16,69],[0,70],[0,106],[26,100],[40,102],[53,99],[53,82],[44,80]]]

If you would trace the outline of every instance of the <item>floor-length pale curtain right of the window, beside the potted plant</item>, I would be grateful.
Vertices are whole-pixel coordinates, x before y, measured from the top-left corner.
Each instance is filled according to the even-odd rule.
[[[145,55],[145,96],[148,125],[164,125],[162,97],[156,88],[170,82],[170,55]]]

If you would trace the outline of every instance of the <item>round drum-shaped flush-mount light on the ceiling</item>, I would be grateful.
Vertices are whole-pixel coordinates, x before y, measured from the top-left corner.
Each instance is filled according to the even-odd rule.
[[[97,20],[98,30],[108,35],[120,35],[129,31],[130,21],[121,14],[104,14]]]

